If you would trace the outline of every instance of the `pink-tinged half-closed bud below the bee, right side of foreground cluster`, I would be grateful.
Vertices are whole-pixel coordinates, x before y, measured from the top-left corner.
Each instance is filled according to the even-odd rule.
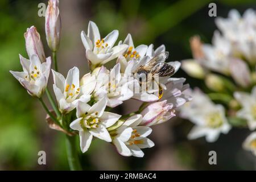
[[[160,123],[166,122],[175,116],[175,110],[172,109],[172,104],[166,104],[167,100],[154,102],[148,105],[142,111],[142,126],[152,126],[158,125]]]

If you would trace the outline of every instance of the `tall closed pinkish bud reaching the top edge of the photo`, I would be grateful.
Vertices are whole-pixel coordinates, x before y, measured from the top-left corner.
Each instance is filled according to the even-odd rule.
[[[46,40],[52,51],[57,51],[60,43],[61,20],[58,6],[59,0],[50,0],[46,9]]]

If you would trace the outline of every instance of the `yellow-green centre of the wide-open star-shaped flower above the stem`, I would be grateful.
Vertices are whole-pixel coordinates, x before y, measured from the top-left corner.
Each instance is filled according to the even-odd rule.
[[[84,117],[81,120],[81,126],[86,129],[97,128],[100,123],[100,119],[97,118],[98,112],[87,115],[85,113]]]

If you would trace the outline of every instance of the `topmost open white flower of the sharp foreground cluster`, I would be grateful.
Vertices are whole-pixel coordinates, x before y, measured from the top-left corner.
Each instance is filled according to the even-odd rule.
[[[101,39],[97,25],[90,21],[88,25],[88,35],[81,32],[81,39],[86,49],[86,57],[92,65],[103,65],[115,59],[126,51],[127,45],[114,46],[118,38],[118,30],[110,32],[104,39]]]

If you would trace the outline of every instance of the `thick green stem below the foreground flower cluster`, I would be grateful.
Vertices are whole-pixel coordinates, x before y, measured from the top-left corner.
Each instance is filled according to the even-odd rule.
[[[77,148],[76,148],[76,137],[69,137],[66,135],[66,147],[68,164],[71,171],[82,170]]]

